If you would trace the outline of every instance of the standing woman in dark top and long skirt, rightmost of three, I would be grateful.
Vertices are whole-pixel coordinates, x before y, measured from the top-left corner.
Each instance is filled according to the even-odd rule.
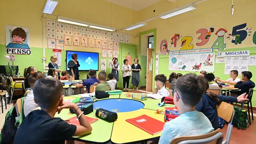
[[[139,83],[140,83],[140,64],[138,64],[139,59],[138,58],[134,58],[134,64],[132,64],[132,85],[133,85],[133,89],[134,87],[136,88],[136,90],[138,89]]]

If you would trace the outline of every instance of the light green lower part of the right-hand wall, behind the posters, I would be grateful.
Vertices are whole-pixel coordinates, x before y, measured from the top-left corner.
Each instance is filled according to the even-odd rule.
[[[229,51],[238,51],[238,50],[250,50],[250,55],[256,55],[256,47],[249,47],[249,48],[234,48],[234,49],[226,49],[223,52],[229,52]],[[214,51],[215,52],[215,51]],[[215,52],[216,56],[217,52]],[[171,72],[176,73],[182,73],[187,74],[188,72],[184,71],[170,71],[169,69],[169,56],[161,55],[159,56],[159,74],[164,74],[169,78],[169,75]],[[225,64],[215,64],[214,66],[214,75],[220,77],[221,80],[226,80],[230,78],[228,74],[224,74],[224,68]],[[256,83],[256,66],[249,66],[249,71],[252,72],[252,81]],[[200,74],[199,72],[196,72],[196,74]],[[238,78],[240,78],[240,75],[238,75]],[[256,92],[254,92],[252,97],[252,106],[256,107]]]

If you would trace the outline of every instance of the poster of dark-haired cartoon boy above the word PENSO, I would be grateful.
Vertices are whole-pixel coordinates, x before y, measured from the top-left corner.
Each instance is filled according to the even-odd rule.
[[[31,54],[29,28],[6,25],[6,54]]]

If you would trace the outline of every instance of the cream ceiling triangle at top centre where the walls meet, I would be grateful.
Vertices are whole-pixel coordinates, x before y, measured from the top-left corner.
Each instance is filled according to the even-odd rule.
[[[117,4],[119,6],[124,6],[126,8],[134,9],[136,11],[142,10],[152,4],[160,2],[161,0],[105,0]],[[176,0],[168,0],[170,2],[175,2]]]

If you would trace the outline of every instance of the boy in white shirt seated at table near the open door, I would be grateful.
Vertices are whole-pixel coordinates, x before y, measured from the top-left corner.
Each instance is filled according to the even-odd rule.
[[[165,88],[165,82],[166,82],[166,76],[164,74],[158,74],[155,77],[156,87],[158,88],[157,94],[160,94],[162,96],[170,96],[170,93]]]

